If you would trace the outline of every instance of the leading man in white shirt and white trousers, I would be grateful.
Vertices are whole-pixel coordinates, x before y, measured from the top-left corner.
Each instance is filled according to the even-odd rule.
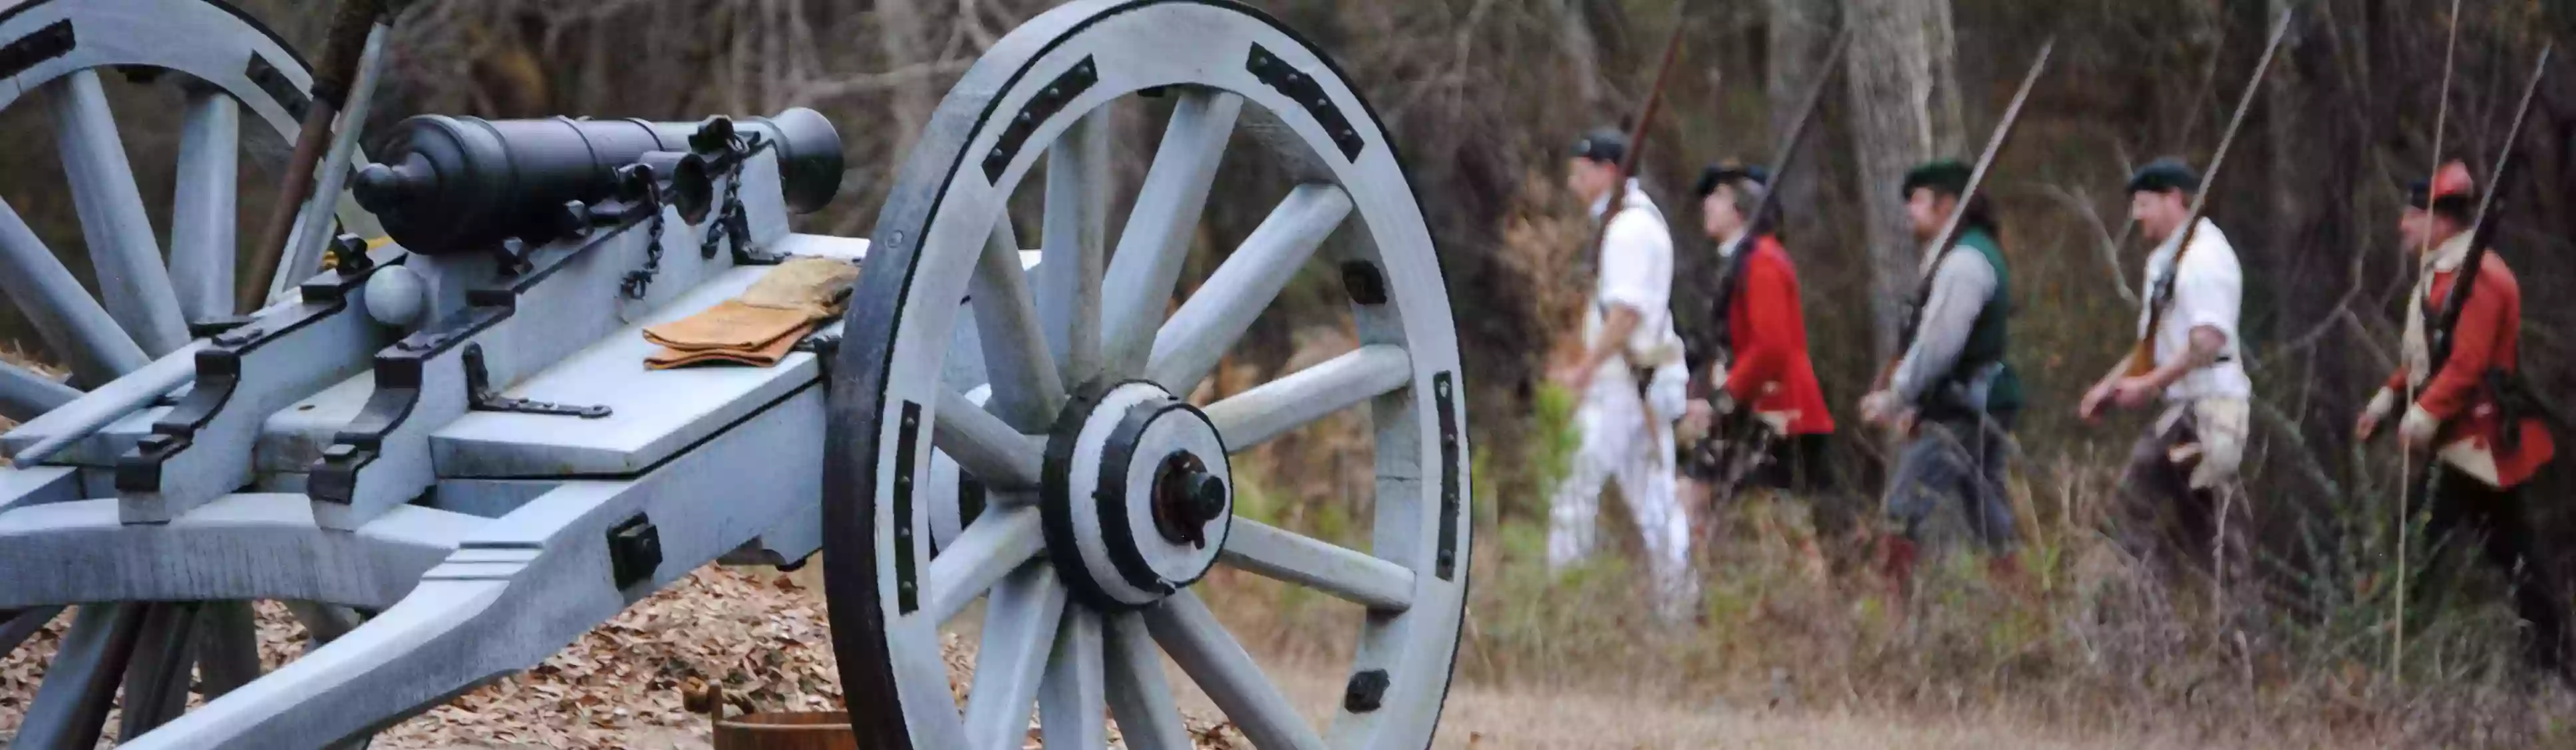
[[[1602,485],[1618,479],[1646,541],[1662,616],[1698,608],[1690,577],[1690,518],[1674,497],[1672,423],[1682,418],[1682,340],[1672,332],[1672,229],[1620,168],[1628,137],[1595,129],[1574,144],[1566,186],[1602,222],[1600,284],[1584,309],[1584,351],[1556,371],[1574,392],[1582,446],[1548,503],[1548,567],[1592,554]],[[1613,214],[1613,206],[1618,209]]]

